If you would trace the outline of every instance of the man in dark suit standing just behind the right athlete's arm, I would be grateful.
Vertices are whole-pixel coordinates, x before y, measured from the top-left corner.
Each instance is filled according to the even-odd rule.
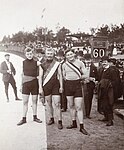
[[[86,117],[90,119],[93,93],[95,89],[95,82],[98,78],[98,73],[96,66],[91,61],[91,54],[85,54],[84,59],[87,74],[87,78],[84,81],[84,104]]]

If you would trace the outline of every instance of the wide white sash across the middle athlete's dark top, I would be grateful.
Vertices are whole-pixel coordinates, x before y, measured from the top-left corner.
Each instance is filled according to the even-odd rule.
[[[43,86],[51,79],[53,74],[55,73],[56,69],[58,68],[60,62],[55,62],[54,66],[51,68],[50,72],[46,76],[46,78],[43,81]]]

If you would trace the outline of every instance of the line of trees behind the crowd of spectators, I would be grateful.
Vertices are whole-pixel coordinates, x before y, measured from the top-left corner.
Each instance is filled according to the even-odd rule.
[[[90,31],[93,36],[107,36],[110,43],[124,42],[124,23],[120,25],[111,24],[110,26],[103,24],[99,28],[90,28]],[[47,27],[39,27],[33,32],[19,31],[18,33],[13,34],[11,38],[10,36],[4,36],[2,43],[13,42],[27,44],[29,42],[41,41],[42,43],[51,43],[51,45],[54,42],[58,45],[62,45],[67,42],[67,35],[70,33],[70,30],[65,27],[59,29],[56,34]],[[82,35],[85,36],[87,34],[85,32],[81,32],[73,35],[77,35],[77,38],[80,39]]]

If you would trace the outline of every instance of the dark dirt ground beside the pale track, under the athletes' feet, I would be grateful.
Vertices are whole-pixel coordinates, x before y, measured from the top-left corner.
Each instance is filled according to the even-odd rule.
[[[57,121],[47,126],[48,150],[123,150],[124,120],[114,115],[114,126],[107,127],[98,121],[103,116],[97,112],[97,100],[93,99],[92,119],[84,119],[89,136],[77,129],[66,129],[70,124],[69,112],[63,112],[63,130],[58,130]],[[48,117],[47,117],[48,118]]]

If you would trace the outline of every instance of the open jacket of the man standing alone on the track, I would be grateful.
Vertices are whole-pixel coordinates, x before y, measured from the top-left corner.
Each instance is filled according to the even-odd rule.
[[[16,74],[16,70],[15,70],[15,68],[14,68],[14,66],[13,66],[13,64],[11,62],[10,62],[10,67],[11,67],[12,74],[15,75]],[[9,79],[10,79],[10,76],[11,76],[11,74],[9,74],[7,72],[7,70],[9,70],[9,68],[8,68],[8,66],[6,64],[6,61],[4,61],[0,65],[0,73],[3,74],[3,78],[2,79],[3,79],[4,82],[8,82]]]

